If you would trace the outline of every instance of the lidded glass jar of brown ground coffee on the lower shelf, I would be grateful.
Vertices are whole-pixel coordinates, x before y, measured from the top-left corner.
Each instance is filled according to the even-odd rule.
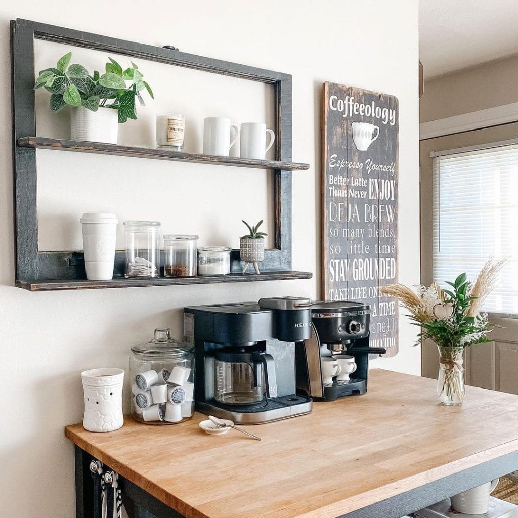
[[[197,274],[198,236],[167,234],[164,236],[166,277],[195,277]]]

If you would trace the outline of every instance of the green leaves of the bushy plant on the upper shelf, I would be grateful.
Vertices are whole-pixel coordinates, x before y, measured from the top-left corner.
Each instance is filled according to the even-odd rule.
[[[143,91],[154,98],[151,87],[133,62],[123,70],[109,57],[103,75],[97,70],[90,75],[82,65],[70,65],[71,57],[72,53],[68,52],[60,57],[55,68],[41,70],[34,84],[35,90],[44,87],[50,92],[50,111],[60,111],[66,106],[82,106],[91,111],[97,111],[99,107],[112,108],[118,110],[122,123],[137,119],[135,97],[141,106],[145,106]]]

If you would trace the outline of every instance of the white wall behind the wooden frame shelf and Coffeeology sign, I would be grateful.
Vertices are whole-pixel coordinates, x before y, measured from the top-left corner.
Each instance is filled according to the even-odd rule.
[[[131,4],[134,8],[128,9]],[[170,326],[174,334],[180,336],[180,308],[185,305],[255,300],[261,296],[316,297],[320,289],[319,275],[304,281],[70,293],[38,294],[13,287],[8,63],[9,20],[17,17],[151,45],[173,44],[186,52],[292,74],[293,157],[296,161],[311,164],[309,171],[297,172],[293,176],[293,266],[294,269],[312,271],[313,274],[319,269],[321,84],[326,80],[335,81],[396,95],[400,106],[400,214],[407,223],[413,222],[400,225],[399,277],[401,282],[412,284],[419,280],[418,5],[416,0],[395,0],[391,3],[381,0],[365,0],[362,3],[353,0],[325,3],[311,0],[263,0],[256,3],[237,0],[224,3],[151,0],[125,4],[92,0],[87,5],[65,5],[56,0],[45,3],[6,0],[2,4],[0,58],[4,63],[4,74],[0,76],[0,84],[4,95],[0,100],[0,380],[4,392],[3,416],[0,420],[0,502],[3,516],[24,517],[37,513],[42,517],[68,518],[74,514],[75,505],[73,448],[63,437],[63,426],[82,418],[79,373],[83,369],[108,365],[126,368],[128,348],[133,343],[147,340],[156,326]],[[153,70],[150,67],[150,72],[154,73]],[[167,92],[163,79],[156,77],[154,80],[158,90]],[[229,97],[228,90],[214,89],[207,94],[208,98],[204,97],[204,109],[199,109],[196,116],[202,115],[202,111],[209,107],[222,110],[227,105],[232,110],[232,117],[242,121],[245,117],[256,117],[254,110],[258,106],[264,108],[263,118],[268,120],[267,92],[259,91],[257,95],[248,96],[250,103],[259,103],[249,112],[240,107],[241,95],[237,93],[236,97]],[[173,88],[170,96],[172,100],[178,99],[186,112],[189,111],[191,107]],[[213,100],[213,107],[210,100]],[[141,141],[150,138],[150,124],[163,99],[156,103],[156,107],[149,104],[149,112],[146,109],[140,111],[141,120],[128,123],[123,130],[125,138],[140,136]],[[40,113],[40,116],[44,117],[44,114]],[[57,123],[52,131],[60,131],[58,121],[52,122]],[[199,131],[199,127],[195,131]],[[54,229],[57,229],[54,237],[49,231],[41,236],[41,239],[47,240],[48,248],[62,242],[61,233],[66,234],[63,238],[65,242],[76,242],[74,232],[78,230],[74,231],[74,218],[83,210],[90,210],[93,206],[97,208],[96,200],[88,194],[78,198],[76,203],[62,203],[53,209],[52,199],[57,203],[60,198],[57,190],[63,188],[66,196],[71,196],[70,192],[74,194],[75,190],[76,194],[84,190],[93,192],[95,178],[90,178],[89,173],[94,175],[96,169],[110,168],[109,182],[113,185],[118,182],[121,190],[126,189],[126,174],[132,178],[138,177],[133,170],[137,167],[143,168],[143,177],[157,181],[178,175],[182,186],[185,185],[185,175],[194,175],[201,183],[204,183],[203,175],[208,175],[208,172],[202,172],[204,166],[189,168],[169,162],[51,151],[38,152],[38,160],[41,161],[38,166],[42,175],[40,204],[45,207],[50,223],[55,225]],[[225,182],[232,178],[228,171],[205,167],[214,175],[221,174]],[[50,174],[51,168],[56,170],[54,177]],[[235,169],[229,171],[238,174]],[[160,217],[169,218],[169,227],[176,225],[178,229],[197,231],[205,236],[212,235],[214,228],[217,228],[221,232],[218,239],[235,239],[241,230],[234,225],[244,217],[241,212],[244,209],[234,210],[228,200],[235,199],[243,191],[251,193],[253,203],[250,204],[249,216],[256,219],[267,210],[266,197],[270,195],[271,198],[267,175],[253,171],[250,174],[257,174],[253,180],[257,182],[256,189],[252,191],[246,189],[246,184],[235,182],[225,183],[223,192],[212,188],[212,199],[204,193],[205,203],[210,206],[216,206],[222,196],[226,200],[217,205],[222,211],[222,224],[219,226],[214,225],[213,221],[198,219],[194,225],[196,228],[188,229],[189,220],[185,219],[185,211],[181,210],[176,212],[178,219],[170,217],[171,214],[175,215],[175,203],[184,207],[181,201],[184,193],[174,188],[170,189],[169,196],[160,194],[156,211]],[[52,193],[51,182],[56,182],[56,178],[61,178],[63,185],[66,183],[66,189],[57,181],[52,188],[56,192]],[[213,179],[207,178],[207,181]],[[168,183],[159,185],[161,191],[168,188]],[[50,203],[49,196],[53,196]],[[86,208],[89,202],[92,205]],[[167,202],[170,204],[170,214],[164,211],[163,204]],[[271,199],[269,203],[271,207]],[[121,209],[117,210],[122,210],[124,217],[128,217],[130,209],[127,205],[125,208],[121,205]],[[152,217],[154,213],[152,205],[145,208],[135,205],[134,209],[135,213],[139,212],[138,217],[143,217],[143,212],[146,217]],[[196,207],[192,210],[195,211]],[[42,221],[42,224],[48,225],[49,221]],[[414,334],[411,326],[402,323],[401,352],[396,358],[378,360],[375,364],[419,373],[418,354],[415,349],[410,349]]]

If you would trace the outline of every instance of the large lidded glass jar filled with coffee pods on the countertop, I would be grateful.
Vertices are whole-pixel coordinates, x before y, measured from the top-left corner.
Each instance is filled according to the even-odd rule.
[[[133,418],[146,424],[175,424],[194,411],[194,353],[189,343],[155,329],[153,340],[131,348]]]

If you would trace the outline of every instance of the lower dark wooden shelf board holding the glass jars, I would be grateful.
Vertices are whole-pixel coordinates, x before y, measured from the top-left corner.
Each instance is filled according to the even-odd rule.
[[[219,284],[223,282],[283,281],[290,279],[311,279],[309,271],[265,271],[255,274],[230,274],[198,277],[158,277],[156,279],[117,278],[109,281],[87,279],[16,280],[16,285],[29,291],[98,290],[104,288],[129,288],[141,286],[177,286],[183,284]]]

